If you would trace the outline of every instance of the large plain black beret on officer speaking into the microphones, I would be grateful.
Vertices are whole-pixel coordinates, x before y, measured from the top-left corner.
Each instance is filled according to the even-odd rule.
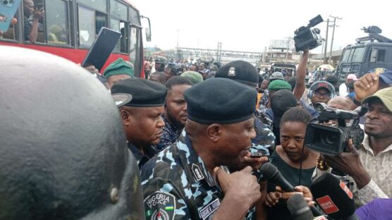
[[[184,92],[188,118],[202,124],[230,124],[255,115],[257,91],[234,80],[211,78]]]

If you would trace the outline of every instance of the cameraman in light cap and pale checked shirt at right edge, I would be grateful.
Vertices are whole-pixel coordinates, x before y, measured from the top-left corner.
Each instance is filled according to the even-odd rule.
[[[365,138],[359,149],[348,143],[349,152],[336,157],[324,155],[333,169],[347,173],[357,185],[356,202],[366,204],[374,198],[392,196],[392,87],[365,98],[367,104]]]

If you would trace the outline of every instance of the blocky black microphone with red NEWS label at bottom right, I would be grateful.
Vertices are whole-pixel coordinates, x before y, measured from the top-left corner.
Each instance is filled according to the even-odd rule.
[[[347,185],[324,173],[310,185],[312,195],[323,211],[333,219],[359,220],[355,214],[353,193]]]

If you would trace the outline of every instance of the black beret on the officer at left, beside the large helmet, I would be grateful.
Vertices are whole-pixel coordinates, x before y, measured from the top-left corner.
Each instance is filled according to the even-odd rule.
[[[153,107],[164,105],[167,89],[158,82],[128,78],[115,83],[111,87],[111,94],[117,93],[132,94],[132,100],[125,106]]]

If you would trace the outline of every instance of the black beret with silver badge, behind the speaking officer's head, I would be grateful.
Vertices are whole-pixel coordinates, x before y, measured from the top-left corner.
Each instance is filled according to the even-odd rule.
[[[253,87],[259,83],[259,73],[257,73],[255,66],[246,61],[227,63],[216,71],[215,78],[228,78]]]

